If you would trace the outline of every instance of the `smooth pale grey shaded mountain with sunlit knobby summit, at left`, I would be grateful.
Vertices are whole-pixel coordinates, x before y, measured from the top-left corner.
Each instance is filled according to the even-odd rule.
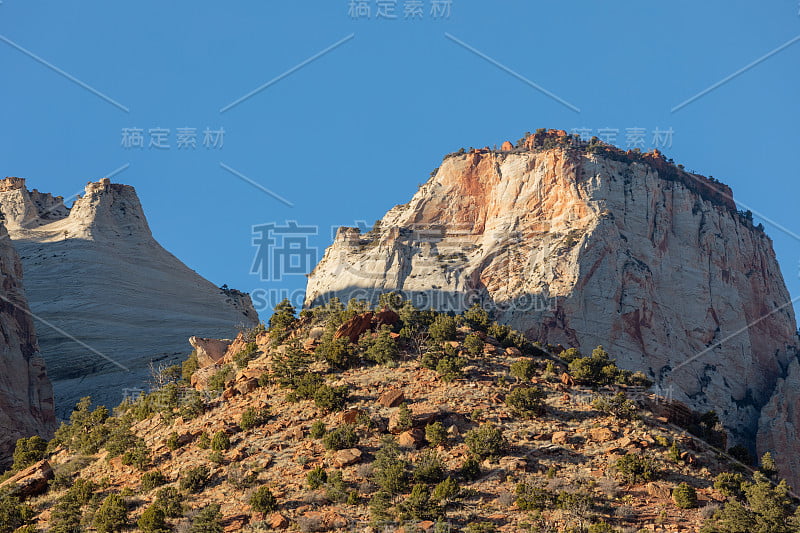
[[[146,390],[150,362],[188,352],[190,335],[231,336],[258,320],[247,295],[214,286],[153,239],[133,187],[89,183],[67,208],[6,178],[0,212],[62,418],[82,396],[116,405],[124,389]]]

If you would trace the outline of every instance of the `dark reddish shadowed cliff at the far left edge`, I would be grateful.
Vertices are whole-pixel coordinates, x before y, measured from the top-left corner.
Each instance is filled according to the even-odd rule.
[[[22,265],[0,225],[0,465],[8,466],[21,437],[55,429],[53,388],[39,355],[22,289]]]

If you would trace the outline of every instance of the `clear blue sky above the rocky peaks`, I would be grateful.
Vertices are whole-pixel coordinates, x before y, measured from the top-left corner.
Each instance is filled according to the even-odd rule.
[[[70,196],[130,165],[112,179],[136,187],[156,238],[190,267],[246,291],[299,289],[303,276],[250,274],[252,226],[316,225],[321,254],[331,226],[371,224],[459,147],[552,127],[615,128],[622,146],[643,128],[649,148],[672,128],[667,156],[788,230],[764,221],[800,295],[800,42],[672,112],[800,35],[798,0],[453,0],[438,18],[432,3],[405,20],[406,0],[389,2],[389,20],[376,0],[358,19],[348,0],[3,0],[2,173]],[[184,127],[197,148],[176,147]],[[122,146],[123,128],[143,129],[145,148]],[[170,130],[169,149],[148,146],[154,128]],[[222,148],[203,146],[206,128],[224,128]]]

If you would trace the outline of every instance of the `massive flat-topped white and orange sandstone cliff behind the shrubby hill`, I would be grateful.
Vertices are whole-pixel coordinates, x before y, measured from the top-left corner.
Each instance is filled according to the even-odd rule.
[[[658,153],[585,148],[531,136],[447,157],[373,231],[340,229],[306,303],[391,290],[457,311],[478,300],[532,339],[604,345],[754,446],[797,344],[771,240],[725,185]]]

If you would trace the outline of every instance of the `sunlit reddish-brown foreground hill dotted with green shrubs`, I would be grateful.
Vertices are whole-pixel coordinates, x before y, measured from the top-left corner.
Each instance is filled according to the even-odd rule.
[[[97,419],[91,427],[84,426],[84,417],[75,417],[72,429],[60,432],[53,453],[6,486],[31,487],[54,478],[49,488],[39,483],[28,491],[37,530],[68,523],[97,525],[105,507],[100,502],[113,495],[124,502],[131,525],[154,514],[153,509],[166,511],[159,531],[187,531],[192,522],[197,528],[192,531],[220,531],[197,524],[205,516],[199,511],[216,504],[214,521],[225,531],[364,533],[587,531],[590,525],[588,531],[598,533],[689,533],[698,531],[726,500],[713,480],[732,465],[672,424],[667,406],[652,395],[642,397],[621,386],[617,390],[630,399],[626,410],[603,411],[595,400],[609,400],[615,390],[576,385],[558,358],[530,343],[522,349],[503,347],[486,328],[467,326],[455,330],[453,340],[428,345],[432,352],[444,347],[445,353],[456,354],[461,364],[455,374],[431,370],[424,357],[404,349],[393,353],[389,366],[371,364],[361,359],[368,355],[363,340],[349,345],[351,368],[337,370],[322,355],[331,341],[324,335],[319,340],[319,332],[332,331],[331,318],[320,319],[324,316],[331,313],[306,315],[288,336],[255,331],[237,338],[220,360],[207,361],[205,368],[232,368],[248,345],[249,360],[220,380],[219,390],[199,405],[191,394],[166,392],[185,387],[184,381],[162,389],[174,397],[171,402],[159,401],[154,393],[123,406],[117,418]],[[370,320],[365,317],[354,316],[336,331],[366,326]],[[341,320],[333,328],[337,323]],[[398,329],[402,324],[395,325]],[[361,332],[371,338],[365,327]],[[281,338],[286,344],[280,344]],[[397,335],[389,338],[404,346]],[[483,339],[478,346],[475,338]],[[301,392],[299,381],[284,381],[287,354],[297,350],[294,340],[305,347],[307,358],[300,375],[313,372],[320,379],[310,391],[313,400],[309,391]],[[300,368],[297,361],[291,365],[295,371]],[[186,368],[188,378],[191,367]],[[207,390],[199,382],[196,386]],[[320,394],[339,387],[344,394],[334,396],[340,395],[341,402]],[[536,414],[520,411],[510,400],[520,390],[541,391]],[[402,405],[410,411],[407,419]],[[476,450],[483,449],[483,444],[476,447],[474,436],[487,427],[503,438],[492,441],[493,451],[471,470],[463,470]],[[130,432],[126,435],[121,428]],[[354,440],[329,437],[343,428]],[[89,453],[82,448],[87,432],[100,444]],[[399,446],[388,460],[387,437]],[[131,450],[141,453],[125,453]],[[620,465],[631,457],[644,458],[650,473],[626,477]],[[381,487],[387,482],[381,472],[388,471],[388,464],[394,465],[393,479],[404,481],[392,485],[394,494],[385,500]],[[434,487],[446,477],[460,487],[437,499],[441,493]],[[681,483],[694,488],[696,505],[680,507],[673,501],[673,490]],[[274,500],[258,508],[252,497],[263,489]],[[792,507],[787,505],[786,512]]]

